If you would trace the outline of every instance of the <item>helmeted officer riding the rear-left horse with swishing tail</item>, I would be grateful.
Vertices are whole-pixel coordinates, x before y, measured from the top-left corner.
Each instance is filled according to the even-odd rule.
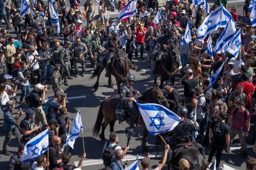
[[[120,39],[117,36],[117,31],[113,30],[111,31],[111,36],[110,38],[107,39],[104,48],[108,50],[108,53],[105,55],[106,59],[106,74],[105,76],[109,76],[110,72],[110,64],[111,64],[111,59],[115,55],[116,48],[121,48],[122,43]]]

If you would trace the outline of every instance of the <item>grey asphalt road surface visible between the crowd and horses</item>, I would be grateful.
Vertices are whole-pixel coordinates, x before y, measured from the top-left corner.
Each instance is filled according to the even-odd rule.
[[[243,12],[243,3],[239,3],[237,1],[234,1],[235,3],[232,3],[232,1],[228,2],[228,11],[230,11],[230,7],[236,5],[237,11],[239,15]],[[82,3],[83,4],[83,3]],[[116,14],[113,13],[111,17],[115,17]],[[132,74],[136,76],[136,82],[134,83],[134,88],[140,90],[140,92],[144,92],[148,88],[152,86],[153,78],[152,73],[150,71],[141,71],[141,69],[145,69],[147,67],[146,60],[134,60],[134,64],[138,65],[137,71],[131,71]],[[99,110],[99,105],[102,100],[104,100],[106,97],[111,96],[113,94],[117,94],[116,89],[110,89],[108,88],[108,81],[104,77],[105,71],[102,73],[102,76],[100,78],[100,87],[97,92],[93,91],[93,84],[95,83],[95,80],[89,80],[90,75],[92,74],[92,68],[90,68],[90,64],[86,64],[86,76],[78,78],[74,78],[74,80],[69,80],[69,87],[63,86],[63,89],[65,89],[65,92],[68,94],[68,97],[74,97],[79,99],[70,99],[67,103],[68,108],[68,116],[69,117],[76,117],[76,113],[78,110],[81,111],[82,120],[83,120],[83,127],[84,127],[84,146],[85,151],[87,154],[86,160],[83,164],[83,169],[101,169],[102,162],[100,162],[101,159],[101,153],[102,153],[102,147],[103,144],[100,143],[99,137],[93,137],[92,136],[92,128],[95,123],[95,120],[97,118],[97,112]],[[113,78],[114,80],[114,78]],[[47,96],[52,96],[52,90],[49,90],[47,92]],[[3,113],[0,114],[0,127],[3,126]],[[126,123],[118,124],[116,122],[115,124],[115,131],[118,133],[119,141],[121,146],[125,146],[127,142],[127,137],[125,136],[125,127],[128,125]],[[0,128],[1,129],[1,128]],[[140,131],[142,133],[142,128],[136,129],[136,131]],[[138,134],[138,133],[137,133]],[[109,136],[109,127],[107,127],[105,132],[106,138]],[[4,141],[3,132],[0,131],[0,148],[2,148]],[[128,164],[131,164],[131,162],[136,159],[136,155],[141,155],[141,141],[140,138],[132,137],[130,142],[130,150],[127,152],[127,156],[125,157],[125,160],[129,160]],[[148,137],[148,148],[150,150],[150,157],[152,157],[152,163],[151,166],[154,167],[158,164],[161,157],[155,158],[155,154],[157,152],[157,147],[154,145],[154,136]],[[12,137],[12,140],[10,142],[10,145],[8,146],[8,150],[10,152],[15,153],[17,151],[17,141]],[[233,145],[232,147],[232,153],[223,153],[222,155],[222,161],[221,165],[226,164],[228,167],[227,169],[231,169],[231,167],[234,167],[235,169],[245,169],[245,160],[241,159],[239,157],[239,145]],[[82,138],[77,138],[76,143],[74,145],[74,150],[72,151],[72,164],[77,164],[79,159],[81,158],[80,155],[82,155],[83,152],[83,144],[82,144]],[[209,151],[207,151],[208,153]],[[248,154],[255,157],[255,153],[252,152],[252,149],[248,150]],[[161,153],[160,153],[161,155]],[[141,155],[142,156],[142,155]],[[140,159],[142,157],[139,157]],[[0,155],[0,167],[1,169],[6,169],[8,160],[10,157],[7,157],[5,155]],[[205,159],[205,161],[207,158]],[[165,167],[166,168],[166,167]]]

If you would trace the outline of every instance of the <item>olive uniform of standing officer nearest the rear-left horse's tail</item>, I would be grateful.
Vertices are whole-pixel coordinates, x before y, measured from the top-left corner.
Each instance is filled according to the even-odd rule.
[[[74,65],[75,65],[75,71],[76,71],[76,76],[78,75],[78,65],[77,63],[80,62],[81,67],[82,67],[82,76],[84,76],[85,73],[85,60],[84,60],[84,54],[88,51],[87,47],[84,43],[81,42],[81,44],[78,46],[77,43],[73,43],[72,46],[70,47],[70,51],[74,51]],[[83,57],[79,59],[79,55],[83,54]]]

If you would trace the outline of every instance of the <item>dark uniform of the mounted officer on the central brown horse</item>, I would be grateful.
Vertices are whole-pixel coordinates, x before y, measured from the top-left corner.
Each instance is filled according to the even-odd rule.
[[[134,107],[133,101],[130,100],[130,98],[134,97],[135,94],[136,94],[136,90],[133,89],[132,85],[129,86],[127,85],[127,83],[122,85],[120,90],[120,99],[127,104],[127,108],[132,113],[131,123],[134,123],[136,121],[136,118],[138,117],[138,111]]]

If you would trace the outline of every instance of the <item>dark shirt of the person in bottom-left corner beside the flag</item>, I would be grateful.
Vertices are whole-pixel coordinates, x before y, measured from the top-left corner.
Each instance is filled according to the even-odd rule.
[[[13,154],[12,157],[10,157],[10,161],[7,169],[28,170],[31,168],[30,168],[29,162],[20,162],[20,155],[19,153],[16,153],[16,154]]]

